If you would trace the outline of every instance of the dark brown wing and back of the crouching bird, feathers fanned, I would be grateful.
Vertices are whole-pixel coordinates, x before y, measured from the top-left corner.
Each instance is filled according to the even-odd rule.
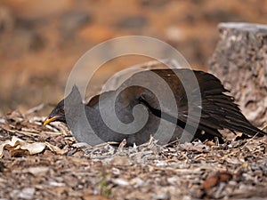
[[[247,121],[234,99],[225,92],[228,91],[218,78],[202,71],[153,69],[131,76],[117,91],[103,92],[101,100],[117,95],[117,116],[125,122],[132,121],[134,106],[142,103],[157,117],[182,128],[187,124],[219,138],[222,135],[218,130],[224,128],[248,135],[266,134]],[[170,106],[172,98],[174,105]],[[100,95],[96,95],[87,106],[95,107],[99,100]]]

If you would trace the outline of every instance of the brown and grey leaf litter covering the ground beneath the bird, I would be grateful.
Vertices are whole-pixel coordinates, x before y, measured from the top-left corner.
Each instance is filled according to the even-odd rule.
[[[1,199],[263,199],[267,137],[162,147],[77,143],[63,124],[0,117]]]

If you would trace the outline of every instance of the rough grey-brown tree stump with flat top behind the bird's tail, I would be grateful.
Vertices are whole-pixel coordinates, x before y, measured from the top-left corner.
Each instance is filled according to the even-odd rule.
[[[221,39],[209,60],[209,71],[231,91],[253,124],[267,124],[267,26],[221,23]]]

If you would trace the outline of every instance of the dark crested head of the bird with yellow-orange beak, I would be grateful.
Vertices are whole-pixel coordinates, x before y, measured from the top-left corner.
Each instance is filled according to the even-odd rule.
[[[52,112],[44,120],[44,125],[52,122],[62,122],[67,124],[66,113],[74,113],[77,108],[77,104],[80,103],[82,103],[82,97],[75,85],[72,87],[69,95],[64,100],[61,100],[55,108],[53,108]],[[67,110],[66,105],[68,105]]]

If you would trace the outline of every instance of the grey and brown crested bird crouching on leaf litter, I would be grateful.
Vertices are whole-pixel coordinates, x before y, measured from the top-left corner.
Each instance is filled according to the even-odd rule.
[[[141,145],[151,136],[158,144],[216,138],[223,143],[223,129],[249,137],[266,135],[247,120],[229,92],[217,77],[204,71],[143,70],[116,90],[93,96],[87,104],[74,85],[44,125],[67,124],[78,141],[93,146],[124,139],[128,146]]]

